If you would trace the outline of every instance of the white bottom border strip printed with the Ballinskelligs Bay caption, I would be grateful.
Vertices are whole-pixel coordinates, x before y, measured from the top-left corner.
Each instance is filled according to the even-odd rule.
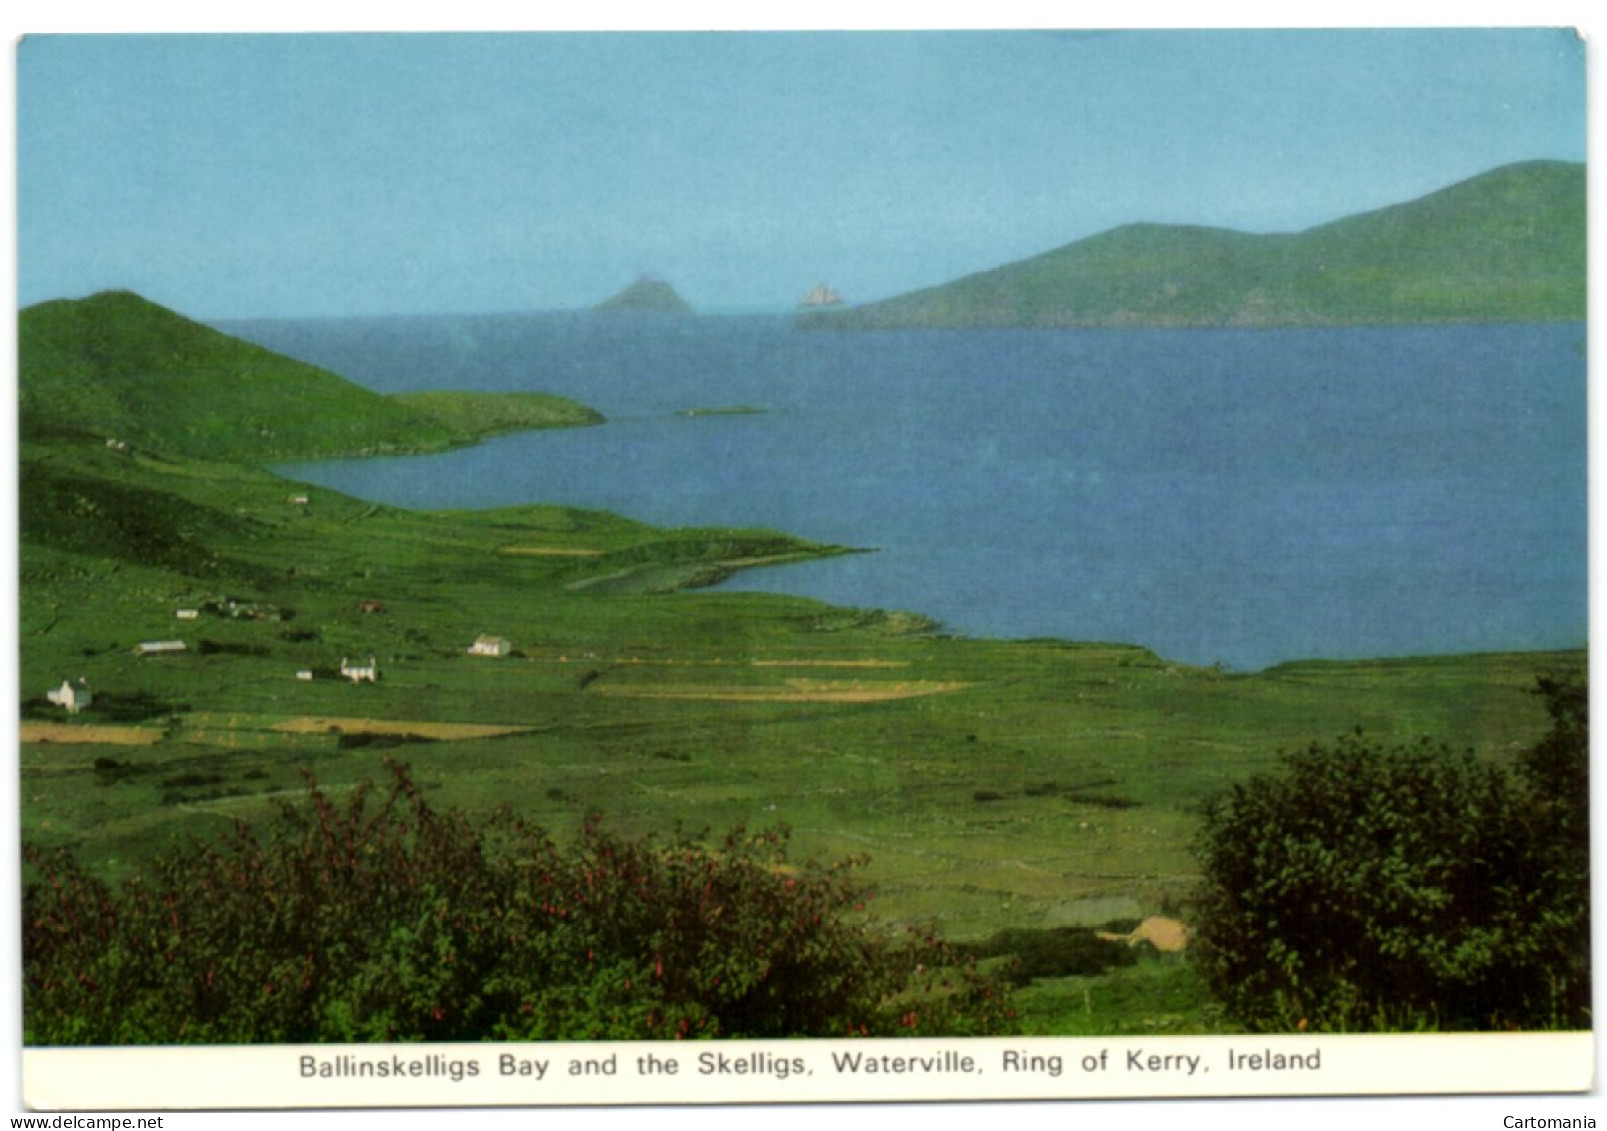
[[[1585,1092],[1593,1033],[29,1047],[34,1110]],[[670,1065],[675,1065],[670,1068]]]

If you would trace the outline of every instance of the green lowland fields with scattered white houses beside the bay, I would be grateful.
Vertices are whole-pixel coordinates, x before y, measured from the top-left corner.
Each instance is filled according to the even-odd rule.
[[[24,400],[29,378],[24,358]],[[21,824],[106,877],[276,813],[304,771],[339,792],[395,758],[439,805],[513,803],[556,837],[588,813],[620,832],[789,826],[795,858],[869,858],[889,929],[1188,921],[1200,806],[1281,750],[1360,726],[1506,761],[1546,731],[1536,676],[1585,668],[1241,675],[951,638],[910,610],[699,591],[852,548],[562,506],[408,512],[74,424],[24,418]],[[471,655],[480,635],[511,651]],[[185,651],[137,655],[161,639]],[[339,676],[370,655],[378,683]],[[95,702],[67,717],[45,692],[77,678]],[[1215,1023],[1186,956],[1019,998],[1025,1031]]]

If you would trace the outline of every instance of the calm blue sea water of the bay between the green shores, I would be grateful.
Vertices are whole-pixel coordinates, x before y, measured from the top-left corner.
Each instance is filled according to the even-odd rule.
[[[281,471],[881,553],[731,588],[1181,662],[1586,641],[1585,328],[797,331],[786,318],[231,323],[381,392],[529,389],[603,427]],[[680,410],[754,405],[747,416]]]

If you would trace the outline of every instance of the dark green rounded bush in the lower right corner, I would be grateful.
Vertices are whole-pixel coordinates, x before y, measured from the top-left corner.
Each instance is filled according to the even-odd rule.
[[[1250,1030],[1588,1028],[1588,884],[1559,835],[1583,699],[1522,774],[1351,734],[1208,806],[1194,954]],[[1583,696],[1583,692],[1580,692]],[[1556,747],[1556,749],[1552,749]],[[1533,782],[1533,784],[1531,784]]]

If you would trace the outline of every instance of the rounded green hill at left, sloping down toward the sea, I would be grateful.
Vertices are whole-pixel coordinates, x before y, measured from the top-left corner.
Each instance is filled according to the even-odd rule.
[[[127,291],[18,318],[22,439],[77,432],[239,463],[445,448],[448,424]]]

